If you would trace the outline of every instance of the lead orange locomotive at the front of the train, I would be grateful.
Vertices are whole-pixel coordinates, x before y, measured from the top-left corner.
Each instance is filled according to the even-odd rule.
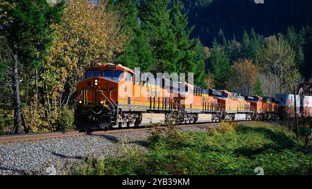
[[[78,83],[76,125],[110,129],[164,123],[175,108],[173,93],[165,93],[162,86],[135,81],[135,72],[120,64],[92,66]]]

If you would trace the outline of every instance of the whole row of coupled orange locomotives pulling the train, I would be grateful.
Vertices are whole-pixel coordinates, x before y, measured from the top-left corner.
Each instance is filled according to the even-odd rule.
[[[89,67],[85,79],[78,83],[76,127],[111,129],[168,121],[183,124],[277,118],[277,103],[272,98],[202,89],[187,82],[173,89],[170,80],[150,84],[136,80],[135,74],[121,64]]]

